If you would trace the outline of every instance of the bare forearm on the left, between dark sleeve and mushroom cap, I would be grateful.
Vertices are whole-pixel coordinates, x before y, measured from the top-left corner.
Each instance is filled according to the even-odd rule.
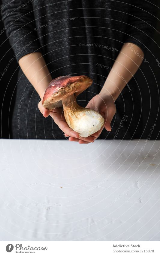
[[[27,54],[20,58],[19,65],[42,99],[47,86],[52,81],[42,54],[40,52]]]

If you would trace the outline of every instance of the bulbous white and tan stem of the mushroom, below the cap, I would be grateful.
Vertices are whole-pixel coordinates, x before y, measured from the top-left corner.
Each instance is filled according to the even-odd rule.
[[[93,109],[79,106],[74,94],[62,99],[62,104],[68,126],[81,137],[90,136],[104,125],[104,118]]]

